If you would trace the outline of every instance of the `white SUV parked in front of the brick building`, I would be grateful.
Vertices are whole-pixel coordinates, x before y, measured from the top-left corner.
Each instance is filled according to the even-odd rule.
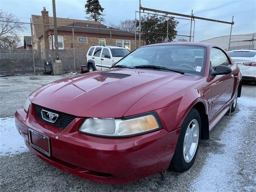
[[[108,69],[128,53],[126,48],[117,46],[91,46],[86,54],[89,72]]]

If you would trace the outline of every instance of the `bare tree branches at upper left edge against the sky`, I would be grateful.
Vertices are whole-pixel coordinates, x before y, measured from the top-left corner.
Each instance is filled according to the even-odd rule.
[[[3,12],[0,9],[0,38],[6,35],[16,36],[18,31],[23,30],[23,24],[18,22],[14,14]]]

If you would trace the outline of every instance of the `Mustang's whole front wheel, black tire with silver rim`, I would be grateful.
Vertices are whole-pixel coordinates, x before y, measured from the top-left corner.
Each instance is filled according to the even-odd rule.
[[[197,122],[196,126],[198,127],[198,131],[190,132],[191,130],[196,131],[196,128],[195,128],[196,126],[194,126],[193,129],[191,129],[191,125],[196,124],[196,122]],[[198,133],[197,136],[194,136],[196,135],[194,133]],[[200,136],[201,136],[200,114],[195,108],[192,108],[190,112],[188,112],[188,115],[184,119],[184,122],[182,123],[182,126],[180,128],[180,135],[178,137],[177,146],[174,152],[174,156],[172,157],[169,169],[175,172],[184,172],[188,170],[190,167],[192,167],[196,159]],[[186,142],[184,142],[185,137],[186,137]],[[194,140],[192,143],[190,142],[191,137]],[[188,150],[189,146],[190,146],[190,150]],[[190,152],[192,152],[192,155],[190,154]],[[188,158],[188,156],[190,156],[190,158]]]

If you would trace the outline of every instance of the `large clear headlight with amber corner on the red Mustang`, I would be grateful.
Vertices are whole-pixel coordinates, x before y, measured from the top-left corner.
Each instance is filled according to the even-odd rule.
[[[152,114],[145,116],[114,119],[114,118],[88,118],[79,128],[86,134],[124,137],[142,134],[161,128],[160,123]]]

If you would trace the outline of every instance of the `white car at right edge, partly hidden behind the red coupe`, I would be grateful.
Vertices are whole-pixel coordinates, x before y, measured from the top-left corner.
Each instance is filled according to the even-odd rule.
[[[227,53],[238,64],[242,79],[252,81],[256,86],[256,50],[233,50]]]

